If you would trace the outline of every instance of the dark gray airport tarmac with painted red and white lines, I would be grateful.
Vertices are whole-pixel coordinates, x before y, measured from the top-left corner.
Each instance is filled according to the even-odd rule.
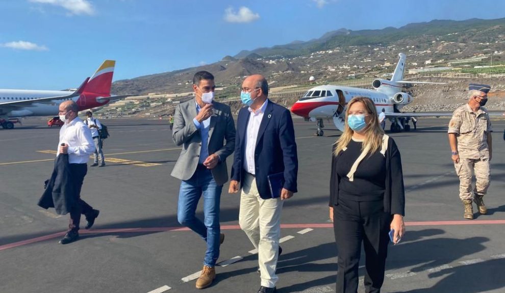
[[[228,194],[224,186],[226,238],[217,278],[198,290],[195,273],[201,270],[205,243],[176,219],[180,181],[170,172],[180,148],[171,140],[167,120],[102,122],[111,135],[104,147],[107,166],[88,168],[82,190],[100,216],[68,245],[58,244],[68,215],[37,206],[52,172],[59,129],[38,119],[0,129],[0,292],[257,292],[257,254],[238,227],[239,195]],[[332,144],[340,131],[325,122],[325,137],[314,137],[315,123],[294,123],[298,193],[284,204],[277,290],[334,292],[338,252],[327,204]],[[420,118],[417,131],[390,134],[402,156],[408,226],[401,243],[389,247],[384,292],[505,290],[505,121],[493,120],[488,215],[475,213],[475,220],[463,219],[447,124],[448,119]],[[364,259],[360,265],[364,292]]]

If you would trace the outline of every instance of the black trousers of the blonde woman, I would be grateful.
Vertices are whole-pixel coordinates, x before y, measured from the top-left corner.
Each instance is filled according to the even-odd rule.
[[[379,293],[384,283],[390,223],[383,200],[338,200],[333,227],[338,247],[337,293],[358,292],[361,244],[365,250],[365,291]]]

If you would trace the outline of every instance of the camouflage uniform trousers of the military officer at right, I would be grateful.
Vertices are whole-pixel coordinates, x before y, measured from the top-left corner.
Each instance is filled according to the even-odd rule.
[[[456,174],[460,177],[460,199],[473,199],[473,194],[485,195],[489,188],[489,159],[472,159],[460,157],[454,163]],[[475,187],[472,191],[472,176],[475,174]]]

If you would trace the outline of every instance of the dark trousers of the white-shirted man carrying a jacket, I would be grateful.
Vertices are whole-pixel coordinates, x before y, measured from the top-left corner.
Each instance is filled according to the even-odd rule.
[[[77,204],[70,210],[70,221],[68,229],[70,231],[79,231],[81,223],[81,214],[87,217],[93,216],[93,208],[81,199],[81,188],[84,182],[84,176],[88,173],[88,164],[70,164],[70,180],[74,190],[74,196],[77,197]]]

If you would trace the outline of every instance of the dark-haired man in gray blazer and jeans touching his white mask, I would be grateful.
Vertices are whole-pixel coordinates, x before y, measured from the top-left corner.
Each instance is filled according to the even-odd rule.
[[[210,286],[216,277],[214,266],[224,241],[219,226],[219,203],[223,184],[228,181],[226,157],[235,148],[235,124],[230,106],[213,101],[214,89],[211,73],[196,72],[195,98],[175,109],[172,129],[173,141],[183,147],[171,174],[182,180],[177,218],[207,242],[204,268],[196,280],[198,289]],[[201,195],[204,196],[203,223],[195,217]]]

